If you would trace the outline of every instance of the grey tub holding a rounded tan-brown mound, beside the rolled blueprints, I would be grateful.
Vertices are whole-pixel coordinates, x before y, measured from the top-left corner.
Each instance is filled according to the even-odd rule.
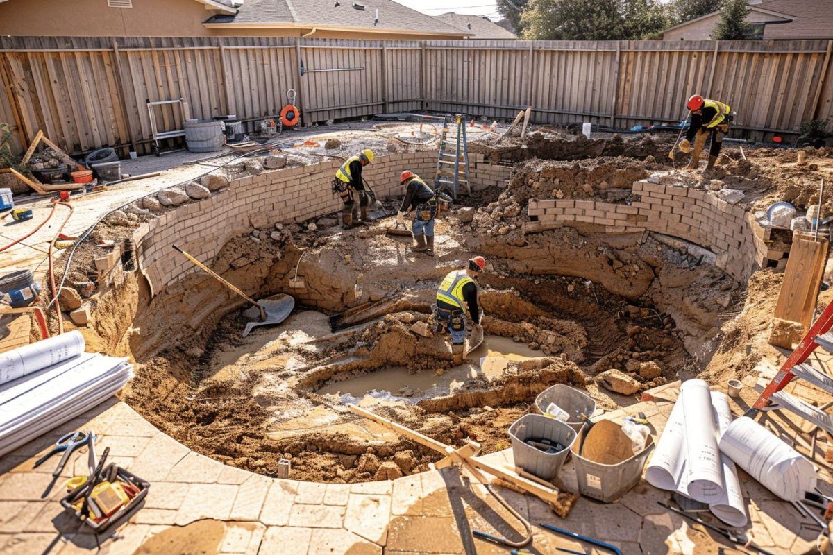
[[[648,436],[645,448],[634,454],[631,439],[611,420],[581,430],[571,447],[579,493],[603,503],[618,501],[639,483],[653,449],[654,438]]]

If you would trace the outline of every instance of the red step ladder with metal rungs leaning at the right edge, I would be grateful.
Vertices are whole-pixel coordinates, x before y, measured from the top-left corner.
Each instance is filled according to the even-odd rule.
[[[795,395],[782,391],[793,379],[803,379],[808,384],[815,385],[829,394],[833,394],[833,376],[817,369],[806,360],[810,354],[821,347],[833,354],[833,303],[821,313],[818,320],[811,326],[801,343],[798,344],[790,356],[781,365],[775,377],[761,392],[746,416],[752,418],[761,410],[787,409],[801,418],[816,424],[828,434],[833,434],[833,415],[823,409],[813,406]],[[775,403],[776,406],[772,406]]]

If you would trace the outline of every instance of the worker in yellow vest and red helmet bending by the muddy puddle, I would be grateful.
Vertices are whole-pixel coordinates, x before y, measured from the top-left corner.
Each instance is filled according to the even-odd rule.
[[[477,305],[475,279],[486,268],[486,259],[475,256],[468,261],[466,270],[452,270],[436,290],[436,333],[451,332],[451,354],[454,364],[463,362],[463,343],[466,339],[466,310],[471,318],[473,331],[482,337],[481,310]]]

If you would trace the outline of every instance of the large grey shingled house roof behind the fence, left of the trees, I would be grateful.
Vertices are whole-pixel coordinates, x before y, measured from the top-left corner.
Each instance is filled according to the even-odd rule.
[[[364,9],[357,9],[361,4]],[[379,20],[376,21],[377,13]],[[207,27],[356,29],[461,37],[471,34],[392,0],[246,0],[235,17],[212,17]]]

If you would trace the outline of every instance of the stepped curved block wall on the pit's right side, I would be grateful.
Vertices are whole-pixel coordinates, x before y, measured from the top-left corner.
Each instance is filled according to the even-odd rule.
[[[715,252],[717,265],[741,281],[767,265],[768,255],[783,258],[784,253],[768,252],[768,230],[751,213],[708,191],[636,181],[633,192],[641,198],[631,205],[532,199],[526,231],[591,225],[605,233],[649,230],[673,235]]]

